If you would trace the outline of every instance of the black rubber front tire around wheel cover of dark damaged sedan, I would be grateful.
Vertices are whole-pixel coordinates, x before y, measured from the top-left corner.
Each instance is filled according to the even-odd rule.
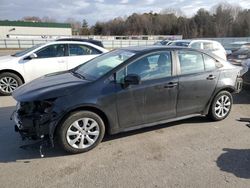
[[[68,128],[70,127],[70,125],[74,121],[81,119],[81,118],[84,118],[84,117],[92,118],[98,123],[100,134],[99,134],[99,137],[96,140],[96,142],[93,145],[91,145],[90,147],[84,148],[84,149],[76,149],[76,148],[73,148],[72,146],[69,145],[69,143],[67,141],[66,133],[67,133]],[[59,145],[62,147],[62,149],[64,149],[65,151],[67,151],[69,153],[72,153],[72,154],[87,152],[87,151],[95,148],[102,141],[104,134],[105,134],[105,125],[103,123],[103,120],[96,113],[93,113],[90,111],[78,111],[78,112],[71,113],[61,123],[59,129],[57,129],[57,136],[58,136]]]

